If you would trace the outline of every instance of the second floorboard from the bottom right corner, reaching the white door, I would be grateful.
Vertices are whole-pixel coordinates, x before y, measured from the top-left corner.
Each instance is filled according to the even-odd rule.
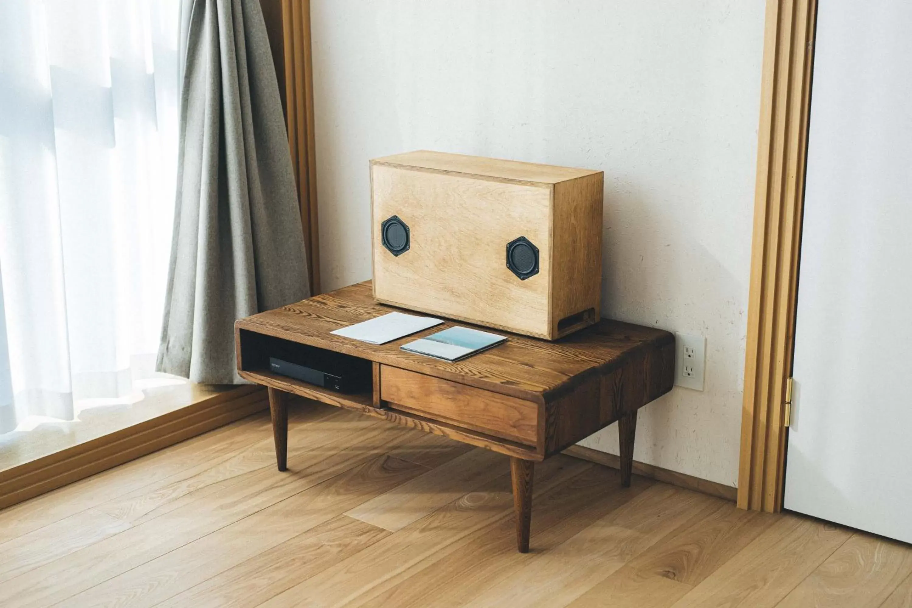
[[[777,608],[878,608],[912,572],[907,545],[855,534]]]

